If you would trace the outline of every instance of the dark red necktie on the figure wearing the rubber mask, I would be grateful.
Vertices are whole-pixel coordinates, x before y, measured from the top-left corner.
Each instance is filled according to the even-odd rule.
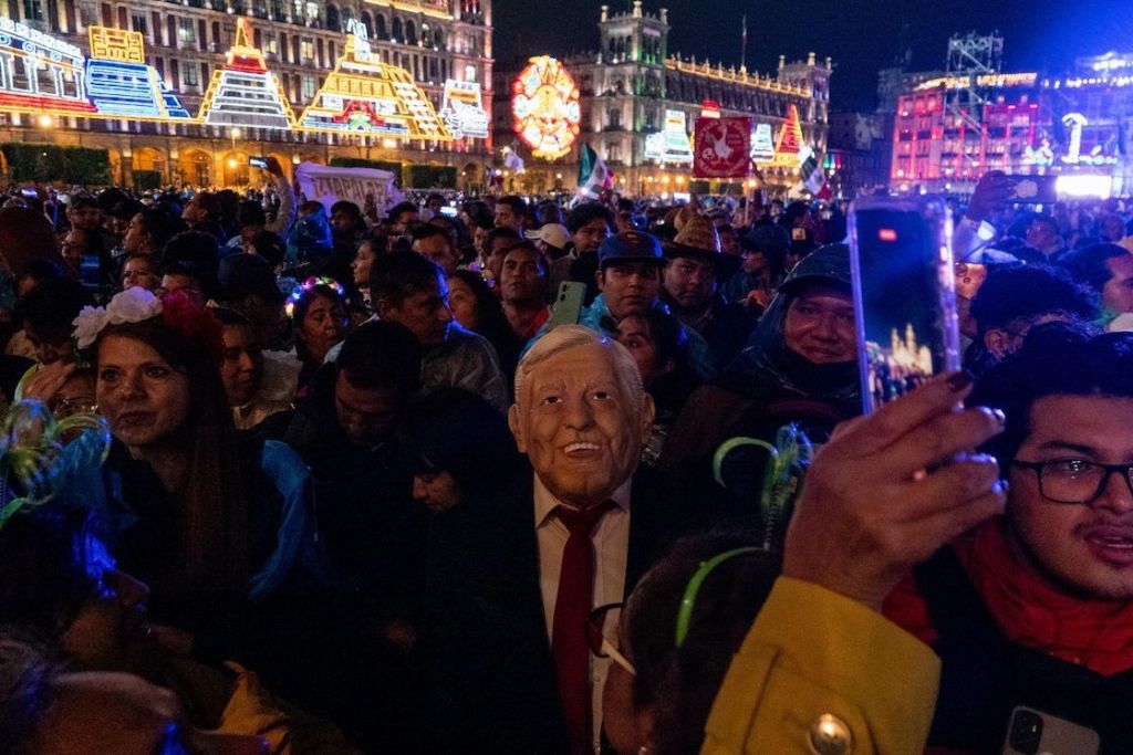
[[[590,508],[555,508],[555,516],[570,530],[563,549],[555,598],[555,620],[551,651],[555,657],[555,680],[563,717],[570,728],[571,753],[593,749],[590,719],[590,647],[586,641],[586,619],[594,606],[596,557],[590,533],[598,520],[615,506],[607,500]]]

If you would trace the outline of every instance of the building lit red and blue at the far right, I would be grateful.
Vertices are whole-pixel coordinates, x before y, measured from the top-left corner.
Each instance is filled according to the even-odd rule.
[[[971,191],[989,170],[1105,177],[1133,189],[1133,54],[1081,58],[1068,76],[996,74],[977,81],[978,118],[948,114],[964,81],[930,78],[898,97],[891,187],[901,192]],[[979,123],[972,128],[971,123]]]

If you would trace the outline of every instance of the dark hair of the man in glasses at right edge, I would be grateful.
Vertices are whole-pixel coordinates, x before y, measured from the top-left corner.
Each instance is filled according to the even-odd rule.
[[[1096,335],[1085,325],[1037,325],[1021,349],[977,381],[968,404],[1006,415],[1006,429],[987,445],[1006,464],[1030,434],[1034,402],[1059,395],[1133,397],[1133,333]]]

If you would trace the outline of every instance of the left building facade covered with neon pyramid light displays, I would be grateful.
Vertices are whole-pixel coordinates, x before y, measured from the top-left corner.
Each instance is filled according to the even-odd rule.
[[[475,187],[492,69],[491,0],[8,0],[0,141],[105,148],[123,185],[257,185],[263,155],[450,165]]]

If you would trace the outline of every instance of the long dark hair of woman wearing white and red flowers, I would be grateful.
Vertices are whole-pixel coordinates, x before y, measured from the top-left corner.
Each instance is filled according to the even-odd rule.
[[[203,304],[182,292],[161,299],[162,315],[108,325],[95,342],[93,361],[97,370],[101,345],[113,335],[146,344],[186,376],[189,410],[184,435],[189,464],[181,492],[184,564],[176,587],[196,597],[205,591],[241,595],[248,581],[246,491],[236,427],[220,378],[221,327]],[[185,327],[187,323],[195,326]]]

